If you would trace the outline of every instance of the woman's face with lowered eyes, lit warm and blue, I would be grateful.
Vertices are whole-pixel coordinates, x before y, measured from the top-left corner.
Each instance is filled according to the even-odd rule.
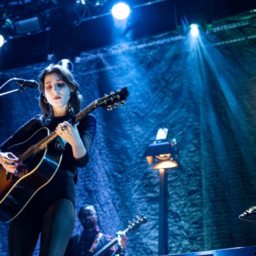
[[[44,77],[44,95],[53,109],[64,109],[70,99],[70,87],[56,73]]]

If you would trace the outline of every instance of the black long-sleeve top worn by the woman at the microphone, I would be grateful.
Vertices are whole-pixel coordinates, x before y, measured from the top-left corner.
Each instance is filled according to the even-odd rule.
[[[29,139],[33,134],[41,129],[47,127],[49,130],[54,131],[59,123],[69,120],[70,115],[61,117],[52,117],[43,122],[42,116],[37,115],[29,122],[20,127],[11,137],[0,145],[0,152],[9,152],[8,148],[11,145],[23,143]],[[83,167],[87,164],[91,145],[94,140],[96,130],[96,120],[93,115],[87,115],[80,121],[77,126],[81,140],[86,148],[86,155],[84,157],[76,159],[73,157],[72,147],[66,143],[65,150],[63,151],[63,157],[61,165],[56,172],[54,178],[46,186],[42,187],[32,198],[27,205],[30,211],[36,211],[35,213],[44,214],[48,207],[55,201],[66,198],[75,204],[74,195],[74,180],[77,177],[77,168]],[[25,149],[24,151],[26,151]],[[54,149],[55,150],[55,149]],[[19,157],[19,156],[17,156]],[[66,170],[68,172],[66,172]],[[70,175],[71,173],[71,175]]]

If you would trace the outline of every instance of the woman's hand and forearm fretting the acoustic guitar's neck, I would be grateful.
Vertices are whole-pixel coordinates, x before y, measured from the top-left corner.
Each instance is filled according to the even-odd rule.
[[[59,123],[56,127],[56,133],[71,145],[74,158],[81,158],[86,154],[86,149],[77,130],[77,125],[72,126],[66,121]]]

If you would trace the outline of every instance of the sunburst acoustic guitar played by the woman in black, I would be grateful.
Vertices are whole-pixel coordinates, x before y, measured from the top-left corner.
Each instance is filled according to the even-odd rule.
[[[118,102],[120,105],[125,105],[128,95],[129,91],[126,87],[115,93],[111,92],[91,102],[77,115],[73,113],[72,108],[69,108],[72,120],[68,122],[74,125],[99,106],[111,111],[112,106],[117,108]],[[48,144],[57,137],[56,131],[50,132],[47,127],[43,127],[28,140],[8,148],[8,152],[19,158],[17,163],[26,166],[27,173],[22,177],[16,177],[13,173],[6,173],[0,165],[0,221],[9,222],[16,218],[35,193],[52,180],[61,164],[62,152],[49,150]]]

